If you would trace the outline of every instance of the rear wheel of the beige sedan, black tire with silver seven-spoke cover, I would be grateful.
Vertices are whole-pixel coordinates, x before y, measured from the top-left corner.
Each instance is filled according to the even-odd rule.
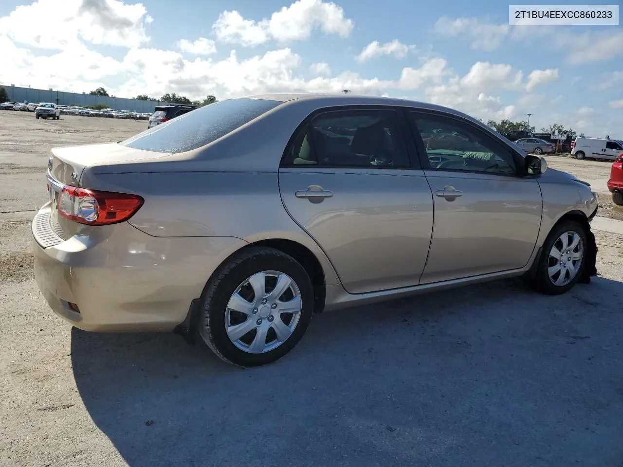
[[[312,281],[294,258],[251,247],[221,267],[202,296],[199,334],[226,362],[255,367],[277,361],[312,319]]]

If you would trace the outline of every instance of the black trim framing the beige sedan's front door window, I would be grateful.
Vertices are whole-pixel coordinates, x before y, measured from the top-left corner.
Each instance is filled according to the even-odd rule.
[[[478,128],[478,126],[473,125],[472,122],[468,120],[464,120],[463,118],[460,118],[460,116],[457,116],[457,115],[450,115],[450,114],[441,113],[435,110],[429,110],[429,109],[423,109],[423,108],[406,107],[404,111],[405,111],[405,117],[407,119],[407,124],[411,128],[412,137],[414,138],[414,143],[417,149],[417,156],[419,158],[419,161],[420,161],[420,164],[423,170],[434,171],[435,169],[430,167],[428,153],[426,151],[426,147],[424,146],[424,141],[422,140],[421,133],[419,131],[419,128],[417,128],[417,124],[415,120],[418,116],[421,116],[424,118],[426,118],[427,116],[434,116],[434,117],[440,117],[440,118],[447,118],[448,120],[454,120],[457,122],[458,125],[464,125],[470,128],[470,130],[473,129],[473,131],[480,132],[480,134],[482,134],[482,136],[484,136],[488,141],[490,141],[490,143],[492,143],[494,147],[500,148],[503,151],[507,151],[508,154],[513,159],[513,163],[515,164],[514,175],[497,174],[495,172],[465,171],[465,170],[460,170],[460,169],[444,169],[444,171],[487,174],[487,175],[495,175],[498,177],[500,176],[521,177],[523,175],[522,170],[521,170],[521,161],[523,161],[523,158],[519,154],[517,154],[513,149],[511,149],[510,147],[507,147],[504,143],[498,142],[495,138],[492,138],[491,136],[489,136],[487,133],[485,133],[485,131],[482,130],[482,128]],[[415,118],[413,118],[412,116],[414,116]]]

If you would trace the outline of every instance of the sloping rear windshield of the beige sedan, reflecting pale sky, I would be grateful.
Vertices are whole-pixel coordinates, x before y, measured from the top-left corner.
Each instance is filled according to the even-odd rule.
[[[216,141],[280,103],[251,98],[222,100],[154,126],[120,144],[159,153],[183,153]]]

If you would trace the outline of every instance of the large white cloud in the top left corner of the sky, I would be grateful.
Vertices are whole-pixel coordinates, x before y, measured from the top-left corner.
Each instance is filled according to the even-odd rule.
[[[0,34],[41,49],[67,49],[80,40],[98,45],[133,47],[149,40],[151,17],[140,3],[120,0],[38,0],[17,6],[0,18]],[[37,26],[49,24],[45,32]]]

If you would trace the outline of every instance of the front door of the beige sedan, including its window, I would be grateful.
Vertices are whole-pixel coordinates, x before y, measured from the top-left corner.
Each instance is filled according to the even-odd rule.
[[[536,179],[518,177],[510,149],[466,120],[409,116],[435,209],[421,283],[524,267],[541,224]]]

